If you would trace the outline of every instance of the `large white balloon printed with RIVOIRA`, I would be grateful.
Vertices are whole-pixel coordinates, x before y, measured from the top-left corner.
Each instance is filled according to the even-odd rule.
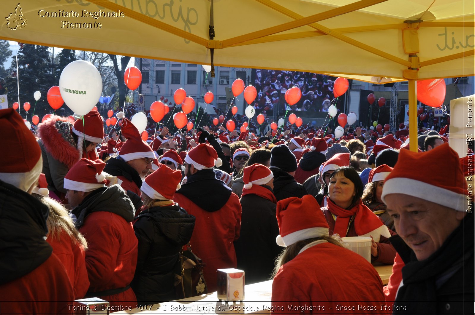
[[[88,61],[73,61],[61,72],[59,92],[67,107],[83,116],[93,109],[101,97],[101,74]]]

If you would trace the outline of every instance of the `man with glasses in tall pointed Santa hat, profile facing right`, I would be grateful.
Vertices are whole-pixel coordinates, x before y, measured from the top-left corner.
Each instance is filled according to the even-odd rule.
[[[104,172],[117,176],[117,184],[125,191],[130,190],[140,196],[142,179],[152,168],[155,155],[142,140],[139,130],[127,118],[123,119],[121,131],[127,140],[120,148],[119,155],[107,160]]]

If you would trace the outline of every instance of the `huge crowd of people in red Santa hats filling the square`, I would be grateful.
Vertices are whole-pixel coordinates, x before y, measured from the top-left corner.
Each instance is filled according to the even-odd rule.
[[[264,88],[285,87],[270,74],[258,91],[272,103]],[[303,80],[306,97],[331,91],[324,78],[274,74]],[[318,102],[309,108],[321,111]],[[205,263],[196,295],[216,291],[217,269],[238,268],[246,284],[274,280],[276,313],[474,312],[466,176],[475,148],[460,159],[447,126],[418,130],[413,152],[404,124],[395,135],[347,127],[339,139],[330,126],[163,127],[145,141],[130,113],[117,116],[110,135],[97,111],[52,116],[32,133],[0,110],[2,312],[71,313],[87,297],[112,311],[178,299],[186,248]],[[371,262],[342,241],[354,236],[371,238]],[[387,286],[378,264],[393,265]]]

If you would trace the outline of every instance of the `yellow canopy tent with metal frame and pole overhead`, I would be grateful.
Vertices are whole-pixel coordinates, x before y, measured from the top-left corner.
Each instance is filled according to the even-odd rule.
[[[24,43],[408,80],[411,150],[416,80],[475,73],[473,0],[2,0],[0,8],[0,38]]]

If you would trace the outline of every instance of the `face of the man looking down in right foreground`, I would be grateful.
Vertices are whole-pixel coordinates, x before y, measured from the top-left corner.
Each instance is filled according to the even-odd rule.
[[[387,211],[394,218],[396,232],[424,260],[438,250],[462,221],[465,213],[418,197],[390,194]]]

